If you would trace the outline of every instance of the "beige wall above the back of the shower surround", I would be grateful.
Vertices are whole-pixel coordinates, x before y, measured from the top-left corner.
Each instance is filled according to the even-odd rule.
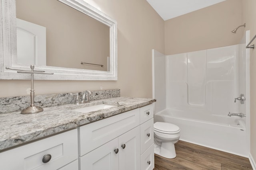
[[[243,28],[242,1],[226,0],[165,21],[165,54],[172,55],[238,44]]]

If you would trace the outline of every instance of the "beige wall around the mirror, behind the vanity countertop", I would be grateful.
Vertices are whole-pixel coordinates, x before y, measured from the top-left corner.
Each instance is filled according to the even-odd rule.
[[[118,23],[117,81],[35,81],[35,94],[121,89],[152,98],[152,49],[164,53],[164,21],[146,0],[95,0]],[[0,80],[0,97],[28,95],[28,80]]]

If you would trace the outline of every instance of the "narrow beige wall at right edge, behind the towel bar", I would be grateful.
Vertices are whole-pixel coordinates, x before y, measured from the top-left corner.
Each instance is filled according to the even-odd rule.
[[[256,0],[242,0],[242,21],[246,22],[246,30],[250,30],[250,39],[256,35]],[[256,45],[256,39],[252,42]],[[256,161],[256,49],[250,49],[250,153]]]

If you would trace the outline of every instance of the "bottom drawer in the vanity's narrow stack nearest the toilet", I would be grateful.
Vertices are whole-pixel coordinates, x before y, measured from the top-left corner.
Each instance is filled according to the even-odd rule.
[[[152,170],[155,166],[154,144],[140,156],[140,170]]]

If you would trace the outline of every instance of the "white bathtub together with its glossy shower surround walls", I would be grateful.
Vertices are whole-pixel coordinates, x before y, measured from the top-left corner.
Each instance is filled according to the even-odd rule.
[[[168,56],[154,51],[153,97],[166,102],[156,102],[155,122],[180,127],[181,140],[248,157],[246,117],[228,116],[246,115],[248,100],[234,102],[248,94],[245,45]],[[161,96],[160,82],[166,86]]]

